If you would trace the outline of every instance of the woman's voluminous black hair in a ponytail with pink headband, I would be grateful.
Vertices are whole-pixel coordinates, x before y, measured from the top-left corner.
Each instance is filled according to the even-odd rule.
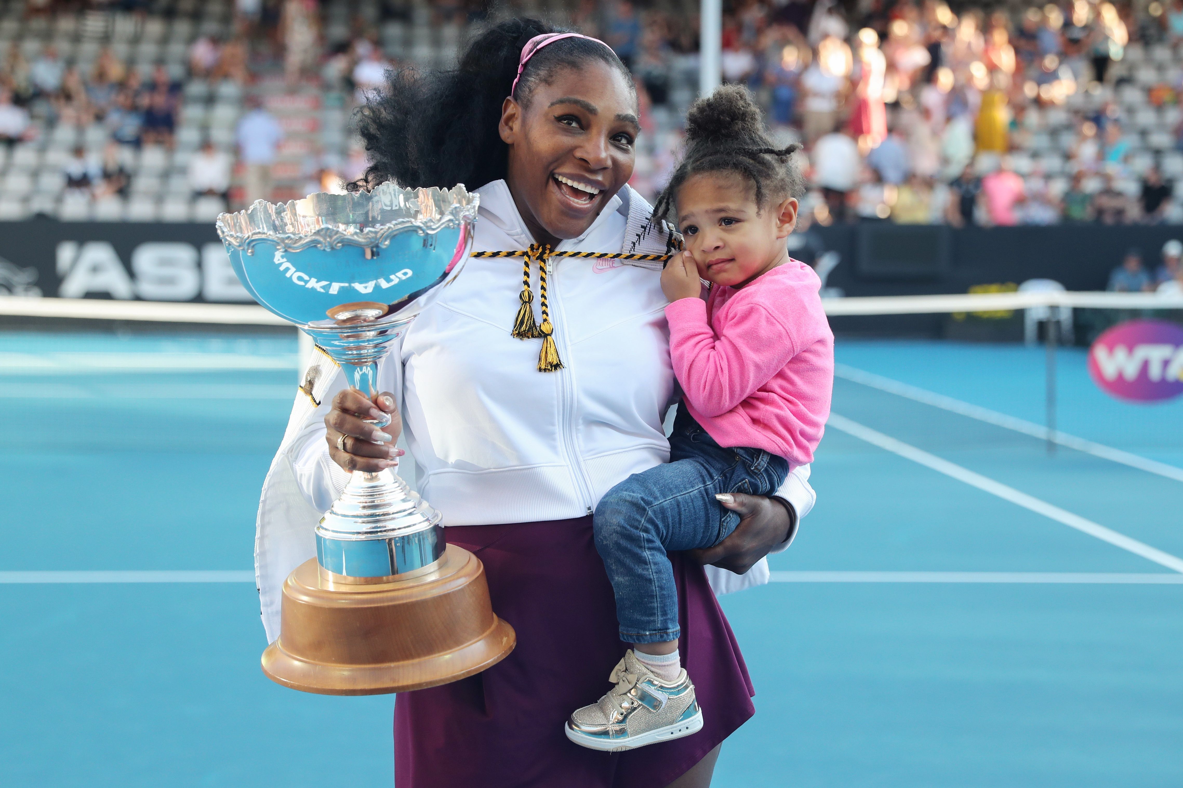
[[[357,132],[371,164],[350,188],[383,181],[477,188],[504,178],[509,148],[498,124],[522,47],[535,35],[564,32],[537,19],[509,19],[472,39],[454,70],[393,72],[384,89],[357,111]],[[530,58],[513,98],[529,106],[535,89],[549,84],[558,70],[581,69],[592,60],[619,71],[635,93],[632,74],[615,52],[597,41],[567,38]]]

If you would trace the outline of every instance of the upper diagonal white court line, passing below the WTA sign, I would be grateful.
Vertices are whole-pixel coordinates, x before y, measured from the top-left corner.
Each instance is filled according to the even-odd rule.
[[[1114,449],[1113,447],[1107,447],[1103,443],[1094,443],[1093,441],[1078,438],[1074,435],[1068,435],[1056,430],[1053,430],[1052,435],[1048,436],[1048,429],[1042,424],[1028,422],[1014,416],[1007,416],[1006,413],[1000,413],[998,411],[990,410],[989,408],[972,405],[968,402],[962,402],[961,399],[953,399],[952,397],[936,393],[935,391],[919,389],[906,383],[900,383],[899,380],[893,380],[892,378],[885,378],[881,375],[875,375],[874,372],[866,372],[853,366],[847,366],[846,364],[835,364],[834,376],[854,383],[861,383],[862,385],[871,386],[872,389],[879,389],[880,391],[906,397],[907,399],[913,399],[916,402],[924,403],[925,405],[932,405],[933,408],[940,408],[953,413],[959,413],[961,416],[969,416],[970,418],[976,418],[980,422],[987,422],[988,424],[1003,426],[1008,430],[1022,432],[1023,435],[1030,435],[1032,437],[1041,441],[1051,438],[1053,442],[1068,449],[1084,451],[1093,455],[1094,457],[1111,460],[1113,462],[1119,462],[1123,465],[1129,465],[1131,468],[1137,468],[1138,470],[1145,470],[1151,474],[1165,476],[1166,478],[1174,478],[1177,482],[1183,482],[1183,468],[1176,468],[1175,465],[1169,465],[1165,462],[1140,457],[1136,454],[1123,451],[1121,449]]]

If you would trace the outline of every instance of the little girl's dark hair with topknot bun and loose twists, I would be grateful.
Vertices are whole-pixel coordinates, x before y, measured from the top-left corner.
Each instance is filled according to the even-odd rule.
[[[686,150],[658,197],[654,220],[665,219],[683,183],[703,172],[735,172],[746,178],[755,185],[759,208],[786,197],[801,197],[804,178],[790,158],[800,149],[797,144],[776,148],[748,89],[724,85],[694,102],[686,113]]]

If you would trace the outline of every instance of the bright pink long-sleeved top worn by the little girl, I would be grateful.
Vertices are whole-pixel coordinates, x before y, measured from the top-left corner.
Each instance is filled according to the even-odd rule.
[[[690,415],[722,447],[813,462],[829,417],[834,334],[813,268],[789,260],[743,288],[666,307],[670,354]]]

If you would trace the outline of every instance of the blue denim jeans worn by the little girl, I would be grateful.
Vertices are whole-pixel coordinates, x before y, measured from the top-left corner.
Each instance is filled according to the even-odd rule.
[[[595,546],[616,594],[620,639],[678,639],[678,591],[666,552],[723,541],[739,515],[715,495],[769,495],[788,473],[788,461],[763,449],[720,447],[679,408],[670,462],[616,484],[595,510]]]

